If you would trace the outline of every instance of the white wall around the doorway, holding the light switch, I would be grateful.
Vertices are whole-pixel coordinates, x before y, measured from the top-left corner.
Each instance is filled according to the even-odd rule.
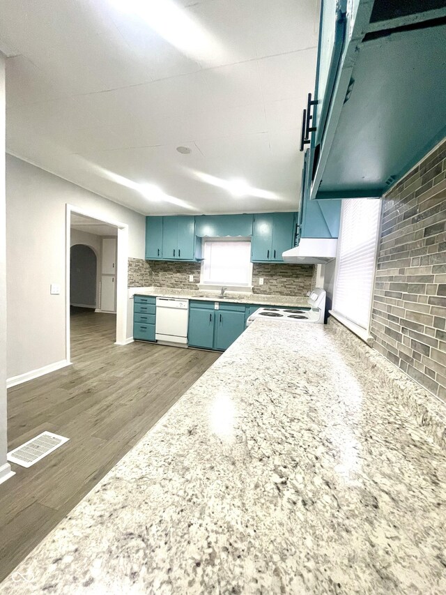
[[[144,258],[144,216],[6,156],[8,377],[66,358],[67,203],[127,224],[128,256]],[[49,294],[51,283],[60,295]]]

